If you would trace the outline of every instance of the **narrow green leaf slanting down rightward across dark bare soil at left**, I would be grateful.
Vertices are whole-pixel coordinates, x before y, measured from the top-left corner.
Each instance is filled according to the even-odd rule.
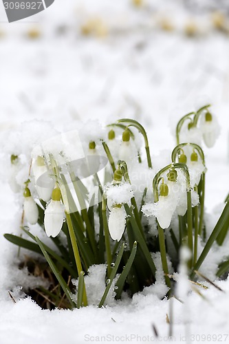
[[[65,292],[65,295],[66,295],[70,305],[72,306],[72,308],[76,308],[76,303],[72,300],[72,292],[71,292],[71,290],[69,289],[69,287],[67,286],[67,283],[65,282],[65,280],[61,276],[61,273],[58,271],[58,268],[56,268],[56,265],[54,264],[54,262],[52,261],[52,259],[48,255],[48,253],[45,250],[45,247],[43,246],[43,244],[42,244],[41,240],[39,239],[39,237],[36,237],[36,242],[37,242],[37,244],[39,244],[39,246],[40,246],[40,248],[41,248],[41,250],[43,252],[43,255],[45,256],[45,259],[47,260],[47,263],[50,265],[50,268],[52,269],[52,272],[56,276],[56,279],[60,283],[61,287],[63,288],[63,291]]]

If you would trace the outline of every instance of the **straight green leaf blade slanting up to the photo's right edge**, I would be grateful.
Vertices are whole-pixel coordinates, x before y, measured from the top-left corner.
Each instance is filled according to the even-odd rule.
[[[197,262],[190,274],[190,278],[193,279],[195,276],[195,270],[199,270],[201,264],[203,263],[204,259],[206,258],[206,255],[208,255],[208,252],[210,251],[210,248],[212,247],[212,244],[214,244],[215,239],[221,232],[223,226],[228,222],[229,218],[229,202],[226,204],[226,206],[223,209],[223,212],[221,213],[221,216],[219,217],[219,220],[217,224],[215,225],[215,228],[212,230],[212,233],[210,237],[208,238],[208,241],[206,242],[206,245],[204,246],[204,250],[202,250],[201,255],[197,259]]]

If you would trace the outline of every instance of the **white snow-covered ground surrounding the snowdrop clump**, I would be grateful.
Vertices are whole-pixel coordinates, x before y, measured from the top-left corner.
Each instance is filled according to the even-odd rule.
[[[175,147],[177,120],[210,102],[221,125],[215,147],[205,150],[206,211],[213,228],[219,215],[215,207],[221,207],[229,189],[229,38],[212,30],[206,13],[197,18],[204,34],[187,37],[182,25],[189,14],[179,1],[149,4],[134,8],[129,0],[68,0],[63,6],[56,0],[33,18],[37,22],[1,23],[0,129],[38,119],[64,130],[76,120],[131,116],[146,127],[151,151],[158,155]],[[155,8],[160,15],[172,14],[174,32],[157,28]],[[95,19],[98,32],[83,36],[83,25]],[[28,39],[31,30],[40,32],[39,39]],[[228,281],[217,281],[224,292],[210,286],[201,290],[204,298],[193,292],[185,305],[174,299],[173,308],[152,287],[103,309],[50,312],[30,299],[19,301],[16,287],[36,281],[26,281],[17,269],[17,248],[2,236],[17,231],[21,214],[3,178],[0,186],[0,343],[152,342],[152,325],[162,342],[169,335],[176,343],[188,335],[194,343],[229,341]],[[171,327],[166,314],[169,319],[173,314]]]

